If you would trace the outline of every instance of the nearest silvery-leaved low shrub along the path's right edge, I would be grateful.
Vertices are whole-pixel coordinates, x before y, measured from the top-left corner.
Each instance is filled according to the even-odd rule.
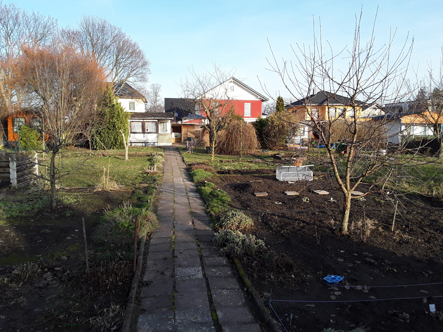
[[[257,251],[264,250],[264,242],[256,239],[254,235],[245,235],[238,231],[223,229],[214,236],[213,243],[223,247],[223,255],[243,257],[245,255],[255,255]]]

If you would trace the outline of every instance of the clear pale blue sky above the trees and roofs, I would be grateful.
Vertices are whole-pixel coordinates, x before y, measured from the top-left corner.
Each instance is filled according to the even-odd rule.
[[[73,26],[83,14],[97,15],[121,26],[138,41],[152,63],[150,83],[162,85],[162,97],[178,97],[179,83],[193,66],[197,72],[217,62],[235,67],[235,76],[262,92],[290,97],[279,77],[266,68],[271,56],[267,39],[278,58],[290,60],[291,45],[312,42],[312,19],[322,21],[323,41],[334,50],[352,43],[355,14],[363,6],[363,35],[370,33],[379,5],[376,40],[382,46],[390,29],[397,29],[394,53],[405,38],[414,36],[411,64],[422,77],[427,63],[438,66],[443,45],[442,1],[116,1],[58,0],[14,2]],[[112,9],[111,9],[112,4]],[[419,66],[420,64],[420,66]],[[410,77],[414,77],[412,70]]]

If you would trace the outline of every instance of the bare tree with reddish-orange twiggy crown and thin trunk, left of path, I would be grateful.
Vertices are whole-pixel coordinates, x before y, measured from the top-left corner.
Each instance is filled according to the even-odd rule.
[[[79,162],[69,170],[59,167],[56,157],[63,150],[85,139],[84,123],[95,110],[97,97],[104,88],[104,74],[96,64],[70,50],[26,49],[22,56],[23,81],[28,93],[40,106],[35,116],[42,120],[39,128],[45,138],[42,150],[51,158],[48,175],[39,175],[51,185],[51,206],[57,201],[57,181],[82,166]]]

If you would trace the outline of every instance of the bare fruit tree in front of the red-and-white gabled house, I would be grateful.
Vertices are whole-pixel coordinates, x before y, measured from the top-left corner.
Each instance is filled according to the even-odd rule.
[[[206,70],[206,73],[198,74],[192,67],[189,72],[191,77],[180,83],[182,95],[194,102],[195,110],[207,118],[208,123],[203,122],[203,125],[209,131],[211,160],[214,160],[222,116],[233,108],[233,97],[228,93],[228,80],[233,77],[233,70],[222,71],[214,63],[212,70]]]

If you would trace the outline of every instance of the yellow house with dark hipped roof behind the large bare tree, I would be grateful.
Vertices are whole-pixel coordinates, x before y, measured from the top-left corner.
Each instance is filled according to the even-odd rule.
[[[354,110],[357,112],[357,118],[361,118],[362,106],[359,100],[354,100],[353,107],[353,103],[348,97],[328,91],[320,91],[286,105],[285,109],[287,112],[294,112],[301,122],[308,123],[311,120],[327,120],[328,117],[331,120],[339,117],[353,119]]]

